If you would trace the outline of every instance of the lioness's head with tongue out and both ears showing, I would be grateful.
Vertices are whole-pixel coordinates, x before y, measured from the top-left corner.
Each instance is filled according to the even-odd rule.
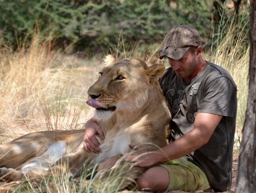
[[[164,65],[148,67],[138,59],[116,60],[108,55],[98,80],[89,88],[87,104],[95,116],[110,118],[117,111],[129,113],[141,109],[164,73]],[[158,86],[158,85],[157,85]]]

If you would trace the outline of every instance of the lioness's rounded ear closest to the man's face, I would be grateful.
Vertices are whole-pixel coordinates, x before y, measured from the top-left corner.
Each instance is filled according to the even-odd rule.
[[[146,70],[146,74],[150,78],[150,83],[154,84],[156,81],[158,81],[159,78],[163,76],[164,71],[165,71],[164,65],[156,64],[149,67]]]

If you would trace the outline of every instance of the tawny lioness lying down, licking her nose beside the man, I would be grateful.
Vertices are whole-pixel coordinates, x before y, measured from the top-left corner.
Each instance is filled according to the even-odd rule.
[[[98,139],[101,152],[84,151],[84,130],[30,133],[0,146],[0,179],[51,176],[53,168],[63,165],[69,176],[78,176],[85,161],[94,166],[116,155],[125,155],[131,151],[129,144],[148,144],[148,150],[167,145],[171,115],[158,83],[164,66],[147,67],[138,59],[116,60],[110,55],[105,64],[88,90],[87,101],[95,108],[95,116],[100,119],[98,125],[105,134],[104,140]],[[137,178],[143,170],[134,167],[128,173]],[[104,171],[101,177],[108,174],[108,170]],[[118,184],[120,188],[129,184],[122,183]]]

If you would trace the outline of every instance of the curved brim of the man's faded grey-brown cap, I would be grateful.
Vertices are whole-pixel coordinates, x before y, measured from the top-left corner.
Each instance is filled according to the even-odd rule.
[[[163,59],[163,57],[172,58],[175,60],[179,60],[187,51],[189,47],[187,48],[172,48],[172,47],[166,47],[163,49],[163,51],[160,54],[160,59]]]

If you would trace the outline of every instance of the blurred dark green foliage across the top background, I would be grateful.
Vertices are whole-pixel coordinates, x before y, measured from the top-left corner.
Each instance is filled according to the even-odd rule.
[[[214,1],[215,2],[215,1]],[[40,33],[54,46],[76,42],[80,51],[110,48],[120,34],[125,42],[161,40],[180,23],[194,26],[203,40],[212,30],[212,1],[0,0],[2,44],[16,49]],[[25,45],[29,46],[29,45]],[[99,49],[101,48],[101,49]]]

